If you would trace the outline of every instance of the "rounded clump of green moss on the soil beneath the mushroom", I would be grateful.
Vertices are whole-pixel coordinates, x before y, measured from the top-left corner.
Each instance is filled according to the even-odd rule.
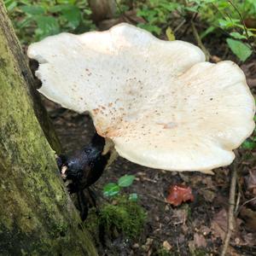
[[[136,201],[119,196],[114,204],[106,204],[100,212],[100,222],[110,233],[116,230],[124,236],[135,238],[143,230],[146,212]]]

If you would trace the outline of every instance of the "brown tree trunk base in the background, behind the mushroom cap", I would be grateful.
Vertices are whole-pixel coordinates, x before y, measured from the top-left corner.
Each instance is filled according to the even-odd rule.
[[[105,19],[112,19],[116,12],[115,0],[89,0],[92,19],[96,24]]]

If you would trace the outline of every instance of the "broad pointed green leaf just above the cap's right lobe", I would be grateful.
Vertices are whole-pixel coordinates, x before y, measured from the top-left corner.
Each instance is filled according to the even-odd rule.
[[[247,58],[253,53],[248,44],[244,44],[241,41],[237,41],[231,38],[227,38],[227,43],[232,52],[241,60],[246,61]]]

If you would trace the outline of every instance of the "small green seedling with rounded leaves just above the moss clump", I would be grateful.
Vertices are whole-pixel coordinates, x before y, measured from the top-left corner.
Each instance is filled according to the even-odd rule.
[[[112,197],[119,195],[121,188],[130,187],[135,179],[134,175],[127,175],[120,177],[117,183],[108,183],[103,188],[103,195]],[[129,195],[130,201],[137,201],[137,194],[132,193]]]

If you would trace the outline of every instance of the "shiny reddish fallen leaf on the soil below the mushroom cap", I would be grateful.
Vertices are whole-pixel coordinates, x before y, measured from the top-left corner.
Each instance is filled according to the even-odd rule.
[[[185,201],[194,201],[194,195],[192,189],[185,185],[172,185],[169,189],[169,194],[166,197],[166,201],[177,207]]]

